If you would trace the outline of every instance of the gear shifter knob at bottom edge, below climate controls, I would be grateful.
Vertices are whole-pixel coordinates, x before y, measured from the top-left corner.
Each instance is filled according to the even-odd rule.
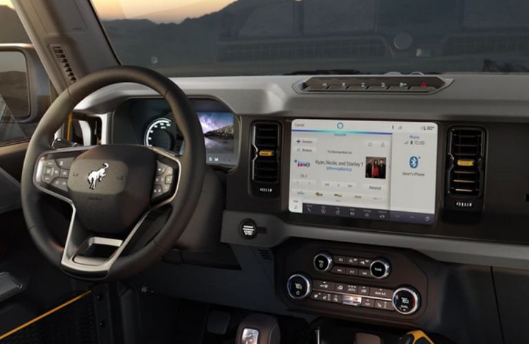
[[[266,314],[251,314],[239,325],[236,344],[279,344],[278,320]]]

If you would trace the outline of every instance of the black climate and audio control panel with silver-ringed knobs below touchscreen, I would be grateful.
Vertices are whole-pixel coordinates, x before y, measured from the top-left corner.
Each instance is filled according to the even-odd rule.
[[[296,310],[416,321],[428,305],[428,264],[417,252],[291,240],[278,250],[278,293]]]

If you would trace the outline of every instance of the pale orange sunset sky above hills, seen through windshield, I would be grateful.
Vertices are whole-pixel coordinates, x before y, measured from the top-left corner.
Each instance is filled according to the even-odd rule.
[[[5,1],[5,0],[0,0]],[[150,19],[180,23],[222,10],[236,0],[92,0],[101,19]]]

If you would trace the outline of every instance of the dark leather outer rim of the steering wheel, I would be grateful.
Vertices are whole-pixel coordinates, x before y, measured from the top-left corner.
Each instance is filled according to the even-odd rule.
[[[30,140],[25,154],[21,176],[21,201],[25,222],[37,248],[60,268],[64,246],[56,242],[48,230],[41,202],[43,193],[34,184],[34,171],[39,156],[52,149],[54,133],[63,125],[74,107],[86,96],[103,87],[116,83],[138,83],[154,89],[167,100],[174,120],[186,142],[185,153],[178,156],[180,181],[176,197],[170,201],[172,211],[165,226],[143,248],[129,255],[118,257],[104,276],[84,275],[82,271],[67,270],[77,277],[98,280],[116,280],[129,277],[154,264],[170,250],[184,232],[203,188],[205,176],[205,143],[203,131],[187,96],[169,78],[152,69],[133,66],[117,66],[101,69],[76,81],[56,98],[44,114]]]

